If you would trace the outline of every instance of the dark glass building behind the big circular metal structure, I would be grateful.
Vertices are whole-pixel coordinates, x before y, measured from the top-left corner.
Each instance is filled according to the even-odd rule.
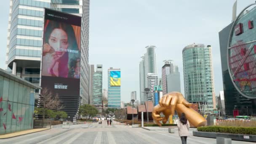
[[[249,115],[256,115],[256,99],[248,99],[242,96],[235,88],[228,71],[227,64],[227,44],[232,24],[219,32],[219,45],[221,53],[221,69],[223,79],[223,90],[225,98],[226,115],[233,115],[233,109],[239,109],[239,115],[247,115],[247,107]]]

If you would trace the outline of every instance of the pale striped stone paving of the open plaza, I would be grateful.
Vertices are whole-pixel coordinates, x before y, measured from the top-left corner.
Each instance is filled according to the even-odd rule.
[[[71,125],[70,128],[52,128],[10,139],[0,139],[0,144],[181,144],[178,131],[168,133],[167,128],[131,128],[114,122],[111,126],[91,123],[89,128],[83,125]],[[192,136],[191,129],[188,144],[216,144],[216,139]],[[253,144],[251,142],[232,141],[232,144]]]

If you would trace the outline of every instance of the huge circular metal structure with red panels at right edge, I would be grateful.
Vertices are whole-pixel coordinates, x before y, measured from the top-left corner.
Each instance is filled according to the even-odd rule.
[[[228,40],[227,64],[229,75],[237,91],[249,99],[256,99],[256,7],[245,11],[234,21]]]

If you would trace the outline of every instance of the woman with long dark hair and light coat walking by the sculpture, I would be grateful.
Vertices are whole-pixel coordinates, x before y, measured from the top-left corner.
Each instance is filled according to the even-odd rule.
[[[187,137],[189,136],[189,121],[184,113],[181,114],[179,121],[177,122],[179,136],[181,137],[182,144],[187,144]]]

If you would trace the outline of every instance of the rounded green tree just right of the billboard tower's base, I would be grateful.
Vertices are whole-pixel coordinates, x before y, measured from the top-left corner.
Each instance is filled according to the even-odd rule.
[[[85,117],[89,116],[90,119],[91,117],[94,117],[98,114],[98,109],[96,107],[91,106],[90,104],[84,104],[80,106],[79,114]]]

